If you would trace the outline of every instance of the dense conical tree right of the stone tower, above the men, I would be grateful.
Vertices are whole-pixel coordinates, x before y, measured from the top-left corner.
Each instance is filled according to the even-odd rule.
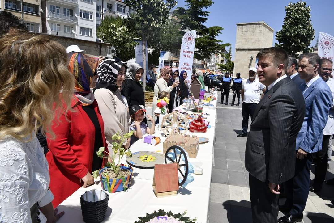
[[[314,39],[314,29],[311,23],[310,6],[306,2],[289,3],[285,6],[285,18],[282,29],[276,32],[279,42],[275,46],[281,47],[288,54],[298,57],[296,53],[308,52],[311,41]]]

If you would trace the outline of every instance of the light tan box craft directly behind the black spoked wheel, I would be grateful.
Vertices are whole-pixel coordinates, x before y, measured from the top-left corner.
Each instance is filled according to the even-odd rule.
[[[169,134],[163,143],[163,154],[166,153],[167,149],[171,146],[178,145],[181,146],[185,151],[187,151],[190,158],[196,158],[199,147],[199,137],[181,134]]]

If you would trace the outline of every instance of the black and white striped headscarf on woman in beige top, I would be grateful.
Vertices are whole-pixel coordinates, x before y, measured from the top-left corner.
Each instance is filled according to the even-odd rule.
[[[95,90],[106,88],[111,91],[116,91],[118,89],[116,84],[117,75],[122,66],[125,66],[125,69],[128,68],[126,62],[121,61],[117,57],[114,59],[106,59],[100,63],[97,70],[99,78]]]

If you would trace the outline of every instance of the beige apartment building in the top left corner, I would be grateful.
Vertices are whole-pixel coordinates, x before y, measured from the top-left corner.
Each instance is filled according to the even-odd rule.
[[[22,4],[23,3],[23,4]],[[41,0],[1,0],[1,11],[11,12],[22,18],[27,28],[32,32],[41,32]]]

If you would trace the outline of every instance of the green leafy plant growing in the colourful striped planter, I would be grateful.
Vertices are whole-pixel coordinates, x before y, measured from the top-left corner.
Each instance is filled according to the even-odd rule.
[[[115,135],[113,135],[111,137],[111,139],[113,140],[113,142],[111,143],[113,145],[113,154],[111,155],[110,153],[108,153],[107,151],[105,151],[105,147],[100,147],[99,151],[96,152],[96,154],[98,155],[98,157],[100,158],[105,158],[108,156],[105,156],[105,154],[109,154],[111,156],[112,162],[107,162],[106,167],[110,167],[114,173],[118,174],[119,170],[120,170],[120,162],[121,162],[121,158],[126,155],[131,157],[132,153],[131,151],[128,149],[127,151],[125,151],[124,147],[123,147],[123,142],[126,142],[133,134],[133,131],[130,131],[129,133],[124,134],[123,136],[120,136],[120,134],[117,132]],[[118,164],[115,163],[115,157],[116,155],[118,156]],[[96,170],[93,172],[93,177],[97,178],[99,176],[99,171]]]

